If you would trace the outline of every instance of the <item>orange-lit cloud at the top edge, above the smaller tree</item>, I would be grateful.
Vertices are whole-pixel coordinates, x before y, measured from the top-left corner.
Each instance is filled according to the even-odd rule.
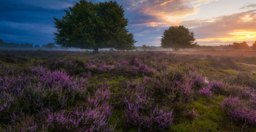
[[[191,2],[191,0],[133,0],[129,3],[129,10],[136,10],[143,15],[155,17],[148,21],[143,20],[143,23],[140,24],[136,23],[137,26],[165,27],[177,25],[177,23],[173,22],[173,18],[184,18],[189,15],[197,14],[198,9],[195,4],[204,4],[210,1],[214,0],[197,0],[194,2]]]

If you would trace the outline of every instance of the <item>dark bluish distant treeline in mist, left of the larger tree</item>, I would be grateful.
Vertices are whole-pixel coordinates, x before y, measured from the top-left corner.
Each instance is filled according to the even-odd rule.
[[[55,46],[54,43],[48,43],[48,44],[43,44],[41,47],[39,45],[33,45],[30,43],[8,43],[8,42],[3,42],[3,40],[0,39],[0,48],[13,48],[13,49],[66,49],[60,46]]]

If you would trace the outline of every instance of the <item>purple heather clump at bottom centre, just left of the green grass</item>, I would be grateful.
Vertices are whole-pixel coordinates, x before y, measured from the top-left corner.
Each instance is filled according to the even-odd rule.
[[[172,124],[172,111],[158,109],[152,104],[153,93],[148,91],[145,83],[134,82],[127,85],[128,97],[125,97],[125,122],[129,127],[139,131],[165,129]]]

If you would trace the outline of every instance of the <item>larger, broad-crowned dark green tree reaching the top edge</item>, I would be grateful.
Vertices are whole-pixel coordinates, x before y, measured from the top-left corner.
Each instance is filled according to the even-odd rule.
[[[118,50],[135,49],[133,34],[126,29],[128,19],[117,2],[92,3],[81,0],[62,19],[54,17],[58,33],[55,43],[66,48]]]

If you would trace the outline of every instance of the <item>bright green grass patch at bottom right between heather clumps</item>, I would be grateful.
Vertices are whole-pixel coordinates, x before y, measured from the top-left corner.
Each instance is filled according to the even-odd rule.
[[[219,104],[224,98],[226,97],[216,95],[215,99],[199,97],[196,101],[190,102],[190,108],[195,108],[199,115],[198,119],[183,120],[177,125],[172,125],[169,132],[231,132],[232,127],[235,132],[240,132],[241,124],[231,123],[231,119]],[[256,128],[248,126],[243,132],[256,132]]]

